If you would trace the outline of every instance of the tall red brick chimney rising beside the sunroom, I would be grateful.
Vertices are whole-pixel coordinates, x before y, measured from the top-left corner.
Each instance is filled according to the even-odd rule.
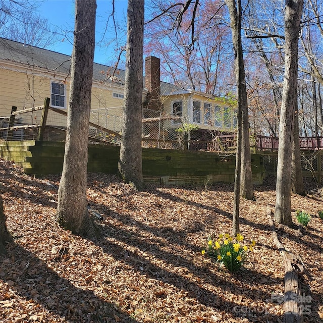
[[[145,109],[160,110],[160,59],[154,56],[145,58],[145,87],[148,90],[144,102]]]

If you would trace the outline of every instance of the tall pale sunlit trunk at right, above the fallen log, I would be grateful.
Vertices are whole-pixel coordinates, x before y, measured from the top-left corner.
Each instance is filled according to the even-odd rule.
[[[303,0],[286,1],[285,73],[280,116],[275,220],[291,226],[291,164],[294,115],[297,108],[298,34]]]

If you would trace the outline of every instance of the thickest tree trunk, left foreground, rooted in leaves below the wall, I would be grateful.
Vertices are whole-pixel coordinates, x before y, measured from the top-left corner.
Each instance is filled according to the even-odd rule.
[[[94,235],[86,201],[96,0],[75,1],[75,31],[58,222],[74,234]]]

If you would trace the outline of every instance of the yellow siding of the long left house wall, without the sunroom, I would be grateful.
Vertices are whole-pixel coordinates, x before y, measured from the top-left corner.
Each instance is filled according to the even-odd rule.
[[[27,69],[21,70],[21,67],[18,70],[12,66],[0,66],[0,117],[9,117],[13,105],[17,106],[18,111],[42,105],[44,98],[50,97],[50,81],[60,82],[63,79],[64,76],[59,78],[53,73],[31,73]],[[69,79],[67,81],[66,105],[68,105]],[[123,94],[123,88],[109,88],[103,84],[93,83],[91,122],[105,127],[113,120],[112,124],[116,126],[116,119],[118,119],[117,128],[120,128],[123,99],[113,97],[114,92]],[[64,109],[64,111],[67,110]],[[16,118],[22,118],[26,124],[37,124],[41,119],[41,111],[20,114]],[[49,111],[47,124],[66,127],[66,117]]]

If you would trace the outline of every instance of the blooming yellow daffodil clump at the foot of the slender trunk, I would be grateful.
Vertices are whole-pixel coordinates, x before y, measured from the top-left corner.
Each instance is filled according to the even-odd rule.
[[[202,254],[223,263],[229,272],[235,273],[246,261],[248,251],[253,251],[255,244],[255,241],[250,245],[244,244],[243,236],[239,233],[235,238],[227,233],[220,234],[218,239],[208,239],[208,248],[202,250]]]

